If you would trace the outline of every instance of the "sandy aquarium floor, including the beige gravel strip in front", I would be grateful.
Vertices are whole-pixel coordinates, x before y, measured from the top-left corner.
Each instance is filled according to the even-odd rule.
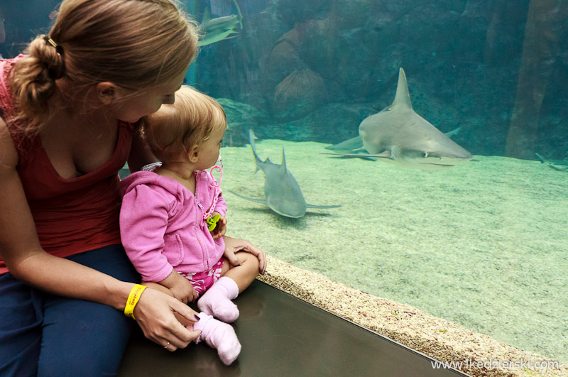
[[[428,172],[324,155],[322,143],[256,144],[274,163],[283,146],[305,200],[342,207],[288,219],[236,197],[264,197],[264,175],[249,146],[222,148],[227,235],[268,253],[262,280],[436,359],[469,361],[471,376],[568,376],[567,173],[487,156]],[[490,359],[503,368],[481,366]]]

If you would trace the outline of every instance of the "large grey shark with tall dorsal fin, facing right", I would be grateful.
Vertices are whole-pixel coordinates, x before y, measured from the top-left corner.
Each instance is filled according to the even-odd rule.
[[[327,154],[372,158],[419,170],[442,170],[473,159],[471,153],[416,114],[402,67],[393,103],[361,121],[359,136],[338,146],[356,146],[359,138],[368,153]]]

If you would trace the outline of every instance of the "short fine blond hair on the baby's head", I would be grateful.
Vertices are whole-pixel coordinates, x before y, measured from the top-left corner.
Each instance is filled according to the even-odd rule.
[[[163,104],[146,118],[143,134],[163,163],[179,162],[193,146],[201,146],[211,132],[226,126],[222,106],[207,94],[182,85],[173,104]]]

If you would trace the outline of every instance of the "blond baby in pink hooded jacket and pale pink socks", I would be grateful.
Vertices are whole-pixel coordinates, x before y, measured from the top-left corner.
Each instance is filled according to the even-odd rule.
[[[120,229],[143,284],[185,303],[200,297],[200,321],[193,328],[202,332],[196,342],[216,348],[229,365],[241,351],[226,323],[239,317],[231,300],[264,273],[266,254],[249,241],[225,236],[226,202],[212,175],[214,169],[222,175],[214,165],[225,130],[222,107],[189,86],[175,92],[174,104],[149,116],[144,135],[162,162],[121,182]]]

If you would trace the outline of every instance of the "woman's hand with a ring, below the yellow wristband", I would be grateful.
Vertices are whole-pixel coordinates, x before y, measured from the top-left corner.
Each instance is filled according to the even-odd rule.
[[[187,328],[175,315],[190,322]],[[199,320],[195,311],[175,297],[152,288],[146,288],[140,296],[134,307],[134,317],[144,336],[168,351],[185,348],[201,334],[200,331],[193,331],[193,323]]]

